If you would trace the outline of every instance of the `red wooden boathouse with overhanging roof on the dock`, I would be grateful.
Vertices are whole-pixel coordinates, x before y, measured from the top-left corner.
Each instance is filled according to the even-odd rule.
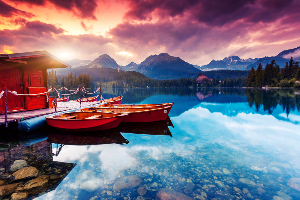
[[[7,88],[7,112],[49,108],[47,69],[71,67],[47,51],[0,54],[0,93]],[[3,94],[3,93],[2,93]],[[5,113],[5,98],[0,99],[0,114]]]

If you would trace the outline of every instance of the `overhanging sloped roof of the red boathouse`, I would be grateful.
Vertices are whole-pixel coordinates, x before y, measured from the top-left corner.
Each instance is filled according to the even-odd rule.
[[[65,63],[64,61],[56,58],[54,55],[48,53],[47,51],[32,51],[23,53],[10,53],[10,54],[0,54],[0,60],[13,61],[23,64],[27,63],[39,63],[43,67],[51,68],[67,68],[71,65]]]

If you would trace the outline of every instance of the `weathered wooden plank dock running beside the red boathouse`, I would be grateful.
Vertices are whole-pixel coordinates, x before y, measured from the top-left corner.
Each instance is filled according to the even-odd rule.
[[[92,107],[99,103],[101,103],[101,101],[81,102],[81,107],[86,107],[86,106]],[[57,102],[56,112],[68,111],[76,108],[80,109],[79,102],[69,102],[69,101]],[[44,109],[37,109],[37,110],[7,113],[7,122],[8,123],[17,122],[19,124],[20,120],[34,118],[41,115],[48,115],[51,113],[55,113],[55,108],[44,108]],[[0,115],[0,125],[1,124],[5,124],[5,114]]]

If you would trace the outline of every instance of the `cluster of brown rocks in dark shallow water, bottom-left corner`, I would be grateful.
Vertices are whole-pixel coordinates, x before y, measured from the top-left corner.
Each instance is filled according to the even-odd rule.
[[[25,160],[24,160],[25,161]],[[14,162],[10,166],[10,171],[14,171],[24,164],[24,161]],[[49,164],[51,163],[51,164]],[[0,199],[21,200],[34,199],[52,190],[75,164],[72,163],[53,163],[52,160],[45,162],[39,160],[32,166],[18,169],[16,172],[2,173],[0,180]],[[5,169],[0,169],[4,171]],[[50,179],[51,177],[51,179]],[[55,187],[54,187],[55,188]]]

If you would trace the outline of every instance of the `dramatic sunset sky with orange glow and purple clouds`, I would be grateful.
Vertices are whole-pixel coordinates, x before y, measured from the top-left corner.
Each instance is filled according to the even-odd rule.
[[[0,0],[0,53],[127,65],[165,52],[201,66],[298,46],[299,0]]]

